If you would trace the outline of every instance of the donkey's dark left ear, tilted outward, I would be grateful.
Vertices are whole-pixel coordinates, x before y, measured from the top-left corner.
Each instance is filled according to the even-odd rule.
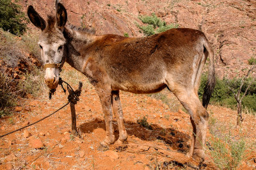
[[[40,28],[42,31],[45,29],[45,20],[40,17],[31,5],[28,7],[28,17],[36,27]]]

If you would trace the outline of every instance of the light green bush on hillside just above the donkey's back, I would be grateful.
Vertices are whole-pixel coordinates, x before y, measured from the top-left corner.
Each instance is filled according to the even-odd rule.
[[[159,19],[154,13],[152,13],[151,16],[139,16],[138,18],[143,22],[143,24],[147,24],[146,26],[140,26],[137,24],[137,27],[139,27],[146,36],[161,33],[174,27],[179,27],[178,24],[166,25],[166,22]]]

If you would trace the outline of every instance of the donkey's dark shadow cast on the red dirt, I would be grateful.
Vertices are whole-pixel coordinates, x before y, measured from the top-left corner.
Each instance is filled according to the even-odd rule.
[[[118,125],[116,121],[113,121],[115,140],[118,139]],[[167,146],[170,146],[172,150],[177,150],[182,153],[188,152],[189,149],[189,135],[184,134],[173,128],[162,128],[159,125],[150,125],[151,129],[141,126],[139,123],[133,121],[125,121],[125,128],[128,135],[134,135],[143,141],[156,141],[161,140]],[[83,133],[92,133],[96,128],[103,128],[106,130],[105,121],[96,118],[95,120],[88,121],[79,126],[79,129]]]

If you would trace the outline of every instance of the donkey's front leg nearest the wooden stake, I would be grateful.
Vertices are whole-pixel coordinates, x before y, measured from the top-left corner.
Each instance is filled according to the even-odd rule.
[[[100,97],[102,111],[104,113],[104,120],[106,123],[106,138],[100,144],[104,147],[108,147],[109,144],[113,144],[115,142],[113,114],[111,108],[111,91],[104,89],[97,89],[97,91]]]

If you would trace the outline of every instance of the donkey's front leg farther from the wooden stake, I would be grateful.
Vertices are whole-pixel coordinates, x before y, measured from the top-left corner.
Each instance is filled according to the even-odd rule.
[[[122,142],[127,139],[127,132],[125,130],[125,125],[124,125],[124,116],[123,116],[123,111],[121,107],[119,91],[111,92],[111,102],[112,102],[113,112],[117,119],[118,130],[119,130],[119,138],[116,141],[116,143],[122,144]]]

